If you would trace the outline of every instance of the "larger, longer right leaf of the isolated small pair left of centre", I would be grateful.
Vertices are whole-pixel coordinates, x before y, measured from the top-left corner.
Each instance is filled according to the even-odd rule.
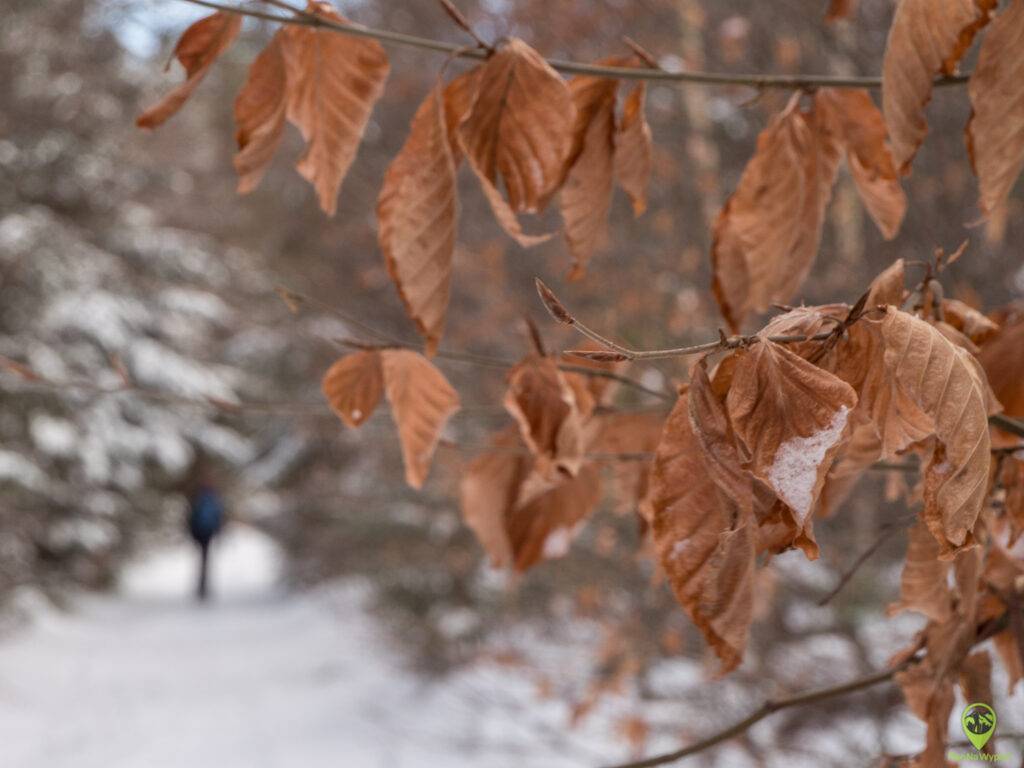
[[[459,410],[459,395],[423,355],[409,349],[380,352],[384,394],[398,427],[406,482],[423,487],[441,430]]]

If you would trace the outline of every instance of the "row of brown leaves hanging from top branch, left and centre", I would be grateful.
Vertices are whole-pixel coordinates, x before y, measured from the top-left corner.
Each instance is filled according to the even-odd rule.
[[[283,26],[250,67],[234,102],[234,166],[239,191],[255,189],[287,120],[306,140],[297,168],[333,215],[383,93],[388,59],[375,40],[338,34],[337,27],[349,23],[330,3],[309,0],[305,12],[322,25]],[[241,26],[242,16],[217,12],[189,27],[174,51],[185,82],[142,114],[138,125],[155,128],[174,115]],[[444,329],[458,226],[456,172],[464,158],[498,222],[523,247],[551,233],[525,233],[519,214],[542,212],[560,191],[573,279],[604,241],[615,179],[636,215],[644,211],[651,168],[645,86],[632,88],[621,115],[617,93],[614,79],[577,77],[566,83],[536,50],[510,38],[469,72],[446,84],[439,78],[427,94],[384,177],[377,214],[388,272],[428,354]]]

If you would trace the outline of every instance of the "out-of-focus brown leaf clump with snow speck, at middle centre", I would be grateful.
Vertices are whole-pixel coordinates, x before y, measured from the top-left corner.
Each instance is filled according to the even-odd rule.
[[[621,509],[635,510],[646,495],[647,463],[608,457],[653,451],[662,415],[611,412],[608,379],[558,364],[532,354],[512,369],[504,404],[515,424],[463,473],[463,517],[496,567],[525,570],[564,555],[601,501],[602,465],[614,470]]]

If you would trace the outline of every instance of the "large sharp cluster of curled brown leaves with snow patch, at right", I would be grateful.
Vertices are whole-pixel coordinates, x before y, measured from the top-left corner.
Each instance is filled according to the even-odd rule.
[[[654,543],[724,670],[742,657],[759,555],[797,547],[816,557],[815,513],[834,510],[876,461],[921,457],[921,527],[936,561],[977,545],[998,404],[975,342],[899,309],[904,294],[897,262],[852,324],[846,306],[775,317],[713,374],[701,361],[669,417],[651,480]],[[844,325],[823,342],[769,341]]]

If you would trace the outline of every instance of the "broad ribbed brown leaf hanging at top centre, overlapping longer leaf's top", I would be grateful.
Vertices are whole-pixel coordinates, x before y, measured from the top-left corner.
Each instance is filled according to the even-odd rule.
[[[542,241],[524,239],[515,214],[541,211],[561,183],[574,119],[565,82],[518,38],[480,68],[459,141],[499,222],[523,245]],[[507,204],[497,186],[499,175]]]

